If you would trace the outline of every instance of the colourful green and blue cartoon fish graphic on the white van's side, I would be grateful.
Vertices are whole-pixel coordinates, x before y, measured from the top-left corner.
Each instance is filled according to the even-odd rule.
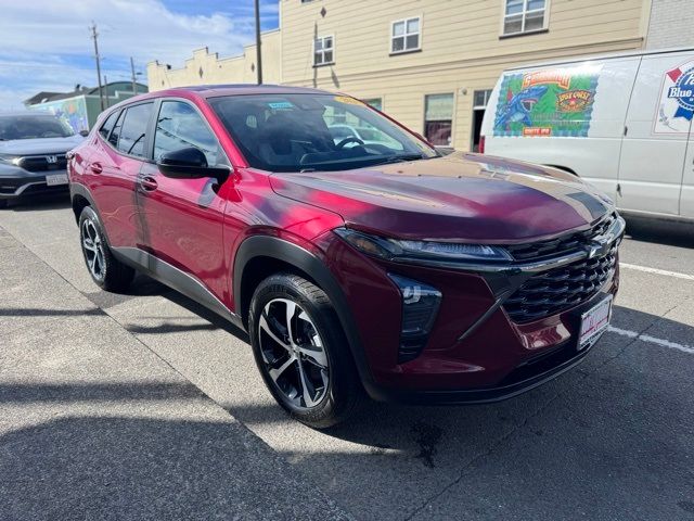
[[[601,68],[552,68],[504,76],[493,135],[587,137]]]

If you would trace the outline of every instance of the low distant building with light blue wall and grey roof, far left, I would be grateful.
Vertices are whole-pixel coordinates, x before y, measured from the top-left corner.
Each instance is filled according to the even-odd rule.
[[[138,94],[147,91],[146,85],[134,85]],[[102,96],[105,107],[108,107],[136,93],[131,81],[113,81],[102,86]],[[76,132],[89,130],[101,114],[99,87],[77,86],[73,92],[39,92],[25,100],[24,105],[29,110],[48,111],[62,117]]]

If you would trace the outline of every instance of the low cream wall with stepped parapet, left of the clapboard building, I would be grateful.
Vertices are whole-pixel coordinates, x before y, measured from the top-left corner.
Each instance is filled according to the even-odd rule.
[[[267,84],[280,82],[282,48],[279,30],[261,35],[262,80]],[[147,79],[150,90],[205,84],[255,84],[256,46],[244,47],[240,56],[220,59],[207,48],[193,51],[193,58],[185,61],[183,68],[169,69],[166,64],[150,62]],[[202,75],[201,75],[202,71]]]

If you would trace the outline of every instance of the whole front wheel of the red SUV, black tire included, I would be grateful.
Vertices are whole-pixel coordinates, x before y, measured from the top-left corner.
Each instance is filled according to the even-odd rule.
[[[355,411],[363,391],[323,290],[291,274],[269,277],[253,296],[248,329],[265,383],[294,418],[324,429]]]

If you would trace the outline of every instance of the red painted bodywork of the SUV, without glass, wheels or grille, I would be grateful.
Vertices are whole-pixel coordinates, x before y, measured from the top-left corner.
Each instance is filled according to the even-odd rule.
[[[240,275],[233,272],[233,263],[243,241],[267,234],[298,244],[322,259],[339,283],[370,370],[383,386],[493,385],[524,360],[577,334],[573,321],[577,309],[523,326],[498,309],[459,341],[494,302],[481,276],[375,260],[331,230],[347,225],[396,238],[530,242],[584,228],[597,218],[604,206],[594,189],[553,169],[462,153],[346,171],[257,170],[248,166],[206,98],[272,91],[220,87],[139,97],[182,98],[200,109],[234,166],[217,188],[210,179],[166,178],[155,164],[118,154],[93,131],[70,160],[70,182],[83,185],[92,194],[112,245],[155,254],[193,275],[229,309],[239,312],[231,289]],[[156,189],[152,182],[146,192],[138,188],[145,176]],[[438,288],[444,295],[423,353],[401,365],[397,358],[401,301],[386,275],[389,271]],[[617,285],[618,272],[603,291],[615,293]]]

